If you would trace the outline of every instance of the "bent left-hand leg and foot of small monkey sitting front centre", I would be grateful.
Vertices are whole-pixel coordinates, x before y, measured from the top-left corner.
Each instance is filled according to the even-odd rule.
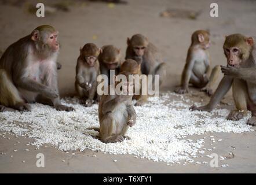
[[[122,142],[122,135],[116,135],[116,121],[112,113],[107,113],[100,121],[101,140],[104,143]]]

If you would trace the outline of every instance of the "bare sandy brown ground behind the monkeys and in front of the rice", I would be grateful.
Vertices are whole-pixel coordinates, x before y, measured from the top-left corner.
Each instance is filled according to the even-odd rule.
[[[61,95],[71,95],[74,93],[75,64],[80,46],[87,42],[94,42],[98,46],[113,44],[120,47],[125,55],[127,36],[141,33],[148,36],[151,42],[159,47],[167,63],[168,80],[163,84],[162,91],[173,90],[180,82],[186,50],[191,41],[190,36],[196,29],[209,29],[211,32],[213,45],[210,48],[210,54],[213,65],[225,64],[222,51],[225,35],[239,32],[247,36],[256,36],[255,1],[217,1],[219,17],[215,18],[209,16],[211,2],[130,0],[128,5],[116,5],[114,8],[109,8],[106,3],[87,3],[86,6],[72,6],[70,12],[58,12],[45,18],[28,14],[23,8],[0,5],[0,50],[5,50],[17,39],[30,34],[38,25],[54,25],[60,32],[61,51],[58,61],[63,64],[63,69],[58,73],[59,88]],[[160,17],[160,12],[167,8],[201,10],[202,13],[197,20]],[[231,99],[230,95],[231,92],[228,94],[229,99]],[[209,100],[207,97],[203,99],[204,102]],[[203,164],[167,166],[163,162],[142,160],[129,155],[113,156],[90,150],[82,153],[75,151],[75,155],[72,155],[73,151],[67,154],[52,146],[35,150],[32,146],[26,146],[31,139],[5,136],[10,139],[0,138],[0,153],[6,153],[0,154],[0,172],[256,172],[255,132],[211,135],[224,139],[216,144],[215,153],[223,155],[232,151],[235,154],[234,158],[225,161],[225,164],[229,164],[226,168],[211,168],[210,165]],[[206,145],[210,145],[209,143],[206,142]],[[231,146],[236,149],[234,150]],[[17,151],[14,152],[14,149]],[[38,153],[45,154],[45,168],[36,167]],[[94,154],[96,157],[93,157]],[[207,160],[210,161],[209,158],[206,158]]]

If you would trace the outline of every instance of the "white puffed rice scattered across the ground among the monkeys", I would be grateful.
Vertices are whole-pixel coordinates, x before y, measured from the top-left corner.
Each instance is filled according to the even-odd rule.
[[[130,140],[105,144],[96,139],[97,131],[86,129],[99,127],[98,105],[85,108],[76,98],[63,99],[62,102],[73,106],[75,111],[58,112],[50,106],[36,103],[32,105],[31,112],[0,113],[0,131],[34,138],[32,145],[38,147],[49,143],[63,151],[91,149],[111,154],[132,154],[136,158],[167,164],[179,164],[180,160],[195,162],[194,158],[204,153],[205,137],[189,139],[189,136],[200,136],[206,132],[251,131],[251,127],[246,125],[250,114],[240,121],[229,121],[225,119],[229,113],[227,109],[215,109],[211,113],[191,112],[189,106],[192,101],[167,92],[160,98],[149,98],[149,103],[144,106],[135,107],[137,123],[127,132]]]

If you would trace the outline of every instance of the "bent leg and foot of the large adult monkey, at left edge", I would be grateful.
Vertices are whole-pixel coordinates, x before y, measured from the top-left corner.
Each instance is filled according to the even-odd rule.
[[[0,69],[0,110],[9,107],[20,111],[31,110],[30,105],[26,104],[20,97],[19,91],[10,80],[4,69]]]

